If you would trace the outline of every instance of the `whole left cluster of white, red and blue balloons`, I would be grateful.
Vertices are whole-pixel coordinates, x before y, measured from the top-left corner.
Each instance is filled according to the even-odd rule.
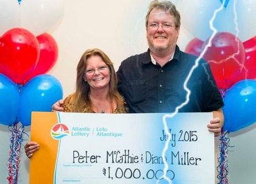
[[[59,55],[46,31],[62,15],[62,0],[0,1],[0,124],[30,126],[32,111],[62,99],[59,80],[46,74]]]

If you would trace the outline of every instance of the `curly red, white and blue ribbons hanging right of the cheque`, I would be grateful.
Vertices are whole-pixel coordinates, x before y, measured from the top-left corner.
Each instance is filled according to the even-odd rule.
[[[227,138],[227,134],[229,132],[224,132],[224,130],[221,130],[221,135],[219,140],[221,141],[221,143],[218,146],[218,150],[219,150],[219,156],[218,156],[218,163],[219,165],[217,166],[217,171],[218,171],[218,175],[217,178],[219,179],[218,184],[228,184],[229,183],[229,179],[228,179],[228,175],[229,175],[229,163],[228,163],[228,159],[227,159],[227,148],[228,147],[232,147],[229,146],[229,141],[230,139]]]

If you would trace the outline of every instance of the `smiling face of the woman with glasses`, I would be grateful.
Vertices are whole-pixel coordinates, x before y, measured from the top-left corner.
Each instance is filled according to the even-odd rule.
[[[99,55],[93,55],[87,58],[85,80],[87,80],[90,88],[93,88],[94,90],[108,88],[110,82],[110,69]]]

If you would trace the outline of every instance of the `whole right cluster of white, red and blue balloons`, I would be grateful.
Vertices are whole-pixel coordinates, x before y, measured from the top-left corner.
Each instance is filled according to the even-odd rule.
[[[256,1],[180,0],[179,5],[181,13],[191,13],[182,25],[194,35],[185,52],[207,60],[222,93],[224,131],[250,126],[256,122]]]

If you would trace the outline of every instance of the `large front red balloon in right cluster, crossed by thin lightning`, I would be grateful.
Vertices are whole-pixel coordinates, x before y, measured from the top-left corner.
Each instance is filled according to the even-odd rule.
[[[208,44],[205,41],[202,48]],[[245,59],[243,43],[229,32],[218,32],[204,53],[219,89],[227,90],[240,74]]]

